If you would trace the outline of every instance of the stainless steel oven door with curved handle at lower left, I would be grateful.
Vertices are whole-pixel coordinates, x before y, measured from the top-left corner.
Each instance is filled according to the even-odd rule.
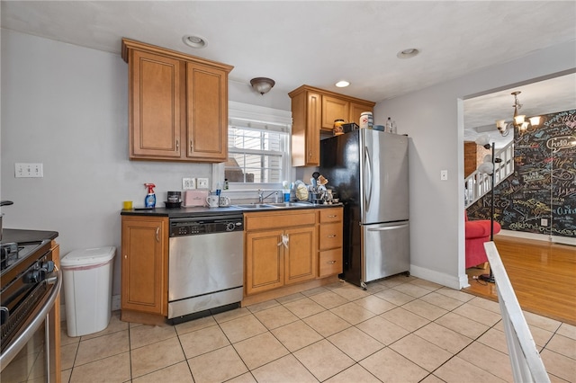
[[[0,355],[2,381],[59,381],[55,302],[62,285],[60,272],[55,270],[42,283],[48,287],[45,297]]]

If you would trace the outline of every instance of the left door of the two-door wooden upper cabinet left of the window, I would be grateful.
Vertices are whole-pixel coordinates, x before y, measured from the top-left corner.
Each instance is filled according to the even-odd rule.
[[[182,62],[130,52],[130,158],[180,156]]]

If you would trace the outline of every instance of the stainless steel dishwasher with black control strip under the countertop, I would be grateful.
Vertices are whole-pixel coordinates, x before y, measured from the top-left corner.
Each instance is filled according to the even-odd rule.
[[[241,213],[170,218],[168,319],[178,323],[239,307],[243,265]]]

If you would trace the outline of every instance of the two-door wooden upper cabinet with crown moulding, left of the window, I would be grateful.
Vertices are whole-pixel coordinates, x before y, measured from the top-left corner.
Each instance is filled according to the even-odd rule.
[[[223,162],[233,67],[122,39],[129,64],[130,159]]]

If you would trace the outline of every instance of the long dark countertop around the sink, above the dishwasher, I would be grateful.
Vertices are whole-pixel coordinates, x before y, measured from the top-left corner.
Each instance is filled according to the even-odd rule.
[[[266,203],[266,202],[265,202]],[[154,209],[122,209],[122,216],[156,216],[156,217],[168,217],[168,218],[178,218],[178,217],[202,217],[209,216],[213,214],[234,214],[234,213],[244,213],[244,212],[256,212],[256,211],[275,211],[275,210],[288,210],[288,209],[323,209],[323,208],[338,208],[344,206],[342,203],[336,203],[332,205],[322,204],[310,206],[298,206],[298,207],[276,207],[273,209],[241,209],[236,208],[234,205],[228,208],[207,208],[202,206],[195,206],[191,208],[180,208],[180,209],[166,209],[166,208],[154,208]]]

